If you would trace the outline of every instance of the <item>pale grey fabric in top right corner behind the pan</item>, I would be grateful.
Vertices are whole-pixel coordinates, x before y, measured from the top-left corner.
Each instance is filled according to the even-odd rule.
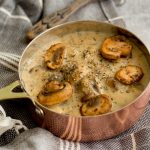
[[[124,17],[127,28],[137,34],[150,49],[150,1],[127,0],[117,8]]]

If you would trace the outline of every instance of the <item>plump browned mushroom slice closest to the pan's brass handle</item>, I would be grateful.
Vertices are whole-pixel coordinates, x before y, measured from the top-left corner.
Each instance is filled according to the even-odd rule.
[[[42,105],[51,106],[68,100],[72,93],[72,86],[68,82],[51,81],[44,86],[37,98]]]

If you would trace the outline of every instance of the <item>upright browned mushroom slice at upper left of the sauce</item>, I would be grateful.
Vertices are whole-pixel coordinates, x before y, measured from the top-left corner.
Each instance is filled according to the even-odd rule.
[[[50,69],[59,68],[64,59],[65,46],[62,43],[52,45],[45,53],[45,62]]]

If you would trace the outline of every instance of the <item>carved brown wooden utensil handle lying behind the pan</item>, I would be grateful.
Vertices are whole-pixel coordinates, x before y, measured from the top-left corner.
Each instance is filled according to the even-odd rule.
[[[68,7],[44,17],[29,29],[29,31],[27,32],[27,38],[29,40],[32,40],[46,29],[64,22],[70,15],[72,15],[79,8],[85,6],[91,1],[92,0],[75,0]]]

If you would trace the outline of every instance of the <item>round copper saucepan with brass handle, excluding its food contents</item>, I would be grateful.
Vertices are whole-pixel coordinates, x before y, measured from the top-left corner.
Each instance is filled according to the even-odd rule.
[[[150,64],[150,55],[146,46],[131,32],[126,29],[114,26],[108,23],[96,22],[96,21],[78,21],[65,23],[54,28],[51,28],[37,38],[35,38],[24,50],[19,62],[19,77],[20,82],[16,81],[11,85],[0,90],[0,99],[10,98],[23,98],[28,97],[34,104],[33,111],[38,118],[38,123],[42,128],[45,128],[52,132],[54,135],[71,141],[95,141],[108,139],[116,136],[123,131],[129,129],[142,115],[150,96],[150,84],[147,83],[144,91],[133,100],[130,104],[122,109],[103,114],[99,116],[87,116],[76,117],[70,115],[59,114],[49,110],[42,106],[39,102],[32,99],[27,92],[25,83],[22,79],[22,71],[26,62],[30,61],[35,51],[38,51],[44,47],[49,40],[62,34],[68,34],[75,31],[96,31],[106,33],[122,34],[126,37],[130,37],[136,45],[141,49],[143,55]],[[23,93],[14,93],[12,89],[18,84],[21,84],[24,91]]]

